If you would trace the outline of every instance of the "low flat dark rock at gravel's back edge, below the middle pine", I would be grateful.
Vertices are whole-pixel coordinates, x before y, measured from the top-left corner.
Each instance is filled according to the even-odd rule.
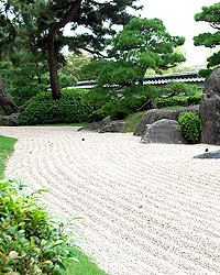
[[[78,131],[82,132],[98,132],[98,133],[120,133],[125,122],[121,120],[116,121],[99,121],[87,124],[84,128],[78,129]]]

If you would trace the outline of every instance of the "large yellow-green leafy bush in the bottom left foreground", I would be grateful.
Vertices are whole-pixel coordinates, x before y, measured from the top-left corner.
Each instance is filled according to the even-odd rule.
[[[0,274],[59,275],[66,258],[76,260],[70,233],[37,206],[43,190],[23,187],[15,179],[0,183]]]

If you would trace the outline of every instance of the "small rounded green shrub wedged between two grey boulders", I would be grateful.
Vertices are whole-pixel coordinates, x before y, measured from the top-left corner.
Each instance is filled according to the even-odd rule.
[[[178,117],[178,123],[185,139],[189,143],[199,142],[201,133],[201,120],[197,112],[182,112]]]

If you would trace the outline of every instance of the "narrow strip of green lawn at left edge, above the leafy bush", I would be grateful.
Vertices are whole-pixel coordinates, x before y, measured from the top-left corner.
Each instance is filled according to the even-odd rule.
[[[16,139],[0,135],[0,179],[3,179],[3,172],[8,157],[13,153]]]

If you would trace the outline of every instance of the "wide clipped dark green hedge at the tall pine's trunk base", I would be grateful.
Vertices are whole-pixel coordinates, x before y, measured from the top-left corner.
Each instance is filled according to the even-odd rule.
[[[82,101],[85,89],[63,90],[61,100],[52,99],[52,92],[41,92],[20,108],[23,124],[76,123],[87,121],[97,108]]]

